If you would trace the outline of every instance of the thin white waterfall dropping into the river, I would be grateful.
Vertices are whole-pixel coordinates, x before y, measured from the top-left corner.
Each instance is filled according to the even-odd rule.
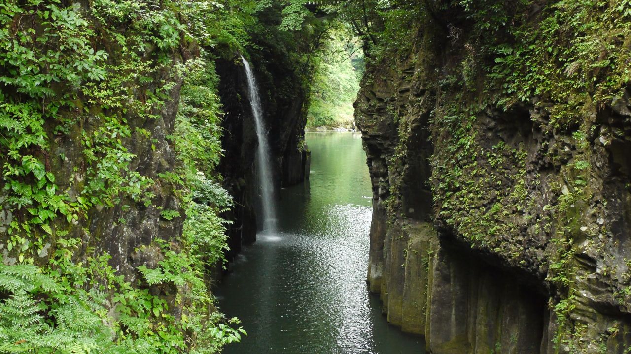
[[[256,136],[259,139],[259,147],[257,149],[257,168],[259,170],[259,182],[261,183],[261,204],[263,212],[263,229],[267,234],[276,233],[276,201],[274,200],[274,181],[271,174],[271,155],[269,153],[268,135],[263,126],[263,110],[261,107],[261,99],[259,98],[259,89],[256,86],[256,79],[252,73],[250,64],[241,55],[241,61],[245,67],[245,75],[247,76],[248,96],[250,105],[252,106],[252,115],[254,116],[254,125],[256,127]]]

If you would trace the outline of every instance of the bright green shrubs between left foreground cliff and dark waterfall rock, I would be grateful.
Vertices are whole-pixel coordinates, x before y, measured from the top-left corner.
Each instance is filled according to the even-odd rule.
[[[190,70],[175,127],[175,148],[184,163],[179,171],[180,183],[187,188],[183,195],[188,207],[182,238],[200,262],[216,266],[228,249],[227,221],[218,214],[232,205],[232,197],[213,181],[221,156],[218,77],[211,61],[200,60]]]

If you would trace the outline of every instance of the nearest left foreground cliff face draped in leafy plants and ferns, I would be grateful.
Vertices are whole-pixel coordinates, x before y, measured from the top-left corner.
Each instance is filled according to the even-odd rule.
[[[182,237],[187,187],[167,176],[182,167],[173,135],[199,52],[174,30],[178,10],[0,6],[0,351],[193,343],[191,295],[207,295]]]

